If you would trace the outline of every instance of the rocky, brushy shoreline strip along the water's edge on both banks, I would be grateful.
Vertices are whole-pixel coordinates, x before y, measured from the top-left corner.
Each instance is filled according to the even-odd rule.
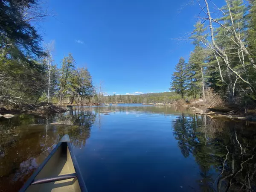
[[[114,103],[114,105],[123,104],[123,103]],[[130,103],[132,104],[132,103]],[[238,108],[229,108],[228,106],[222,107],[222,108],[207,108],[206,105],[196,105],[194,104],[163,104],[163,103],[141,103],[142,105],[152,105],[152,106],[177,106],[181,108],[186,108],[187,111],[194,112],[196,114],[200,115],[207,115],[210,118],[228,118],[228,119],[239,119],[239,120],[246,120],[246,121],[256,121],[256,114],[255,113],[244,113],[241,111],[241,109]],[[203,103],[202,103],[203,104]],[[112,104],[113,105],[113,104]],[[42,102],[38,105],[34,104],[24,104],[22,105],[22,108],[11,108],[9,110],[6,110],[5,108],[0,108],[0,117],[3,117],[4,115],[11,114],[11,115],[19,115],[19,114],[30,114],[30,115],[36,115],[36,116],[50,116],[55,113],[64,113],[69,111],[69,107],[78,107],[78,106],[102,106],[102,104],[52,104],[52,103],[46,103]],[[103,105],[104,106],[104,105]],[[107,105],[109,106],[109,105]],[[197,107],[195,107],[197,106]],[[204,108],[204,110],[202,109]]]

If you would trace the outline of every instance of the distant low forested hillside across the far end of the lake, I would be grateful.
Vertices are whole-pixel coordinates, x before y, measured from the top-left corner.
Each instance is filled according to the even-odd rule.
[[[172,103],[174,99],[180,99],[176,93],[145,93],[141,95],[112,95],[102,96],[105,103]]]

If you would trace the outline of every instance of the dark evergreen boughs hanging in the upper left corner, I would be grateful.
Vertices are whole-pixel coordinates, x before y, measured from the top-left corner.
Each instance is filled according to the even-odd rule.
[[[0,1],[1,54],[33,65],[31,58],[46,55],[41,47],[41,36],[24,16],[24,10],[37,4],[37,0]]]

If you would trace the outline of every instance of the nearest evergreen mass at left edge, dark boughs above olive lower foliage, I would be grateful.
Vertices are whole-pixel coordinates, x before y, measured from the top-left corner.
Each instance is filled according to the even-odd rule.
[[[46,52],[24,15],[37,0],[0,1],[0,105],[37,102],[46,89]]]

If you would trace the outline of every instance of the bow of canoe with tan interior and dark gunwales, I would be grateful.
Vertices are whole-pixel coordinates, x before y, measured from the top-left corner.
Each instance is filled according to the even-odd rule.
[[[64,135],[20,192],[87,192],[70,138]]]

